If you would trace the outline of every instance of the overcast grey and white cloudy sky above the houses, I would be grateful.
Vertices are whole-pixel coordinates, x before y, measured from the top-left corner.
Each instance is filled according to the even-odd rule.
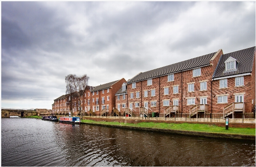
[[[2,108],[47,108],[65,76],[97,86],[255,46],[255,2],[1,2]]]

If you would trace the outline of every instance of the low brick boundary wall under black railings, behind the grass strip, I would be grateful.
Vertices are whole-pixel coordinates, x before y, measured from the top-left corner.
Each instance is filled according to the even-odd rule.
[[[155,123],[198,123],[198,124],[207,124],[207,125],[216,125],[216,126],[222,126],[225,127],[226,124],[224,122],[184,122],[184,121],[162,121],[162,120],[136,120],[135,119],[121,119],[121,118],[92,118],[92,117],[86,117],[84,119],[87,120],[93,120],[93,121],[106,121],[106,122],[121,122],[124,123],[126,121],[127,123],[141,123],[141,122],[155,122]],[[229,127],[234,128],[255,128],[255,123],[229,123]]]

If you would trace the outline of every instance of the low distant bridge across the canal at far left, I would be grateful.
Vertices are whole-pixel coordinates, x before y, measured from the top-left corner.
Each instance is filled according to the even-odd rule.
[[[1,108],[2,118],[10,118],[10,116],[37,116],[37,112],[28,109]]]

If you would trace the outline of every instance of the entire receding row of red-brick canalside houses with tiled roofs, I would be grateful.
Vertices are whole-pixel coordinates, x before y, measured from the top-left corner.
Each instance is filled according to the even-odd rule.
[[[255,112],[255,46],[223,54],[222,49],[183,62],[140,72],[121,80],[87,87],[81,104],[84,113],[173,117],[190,113]],[[66,95],[54,100],[53,111],[68,113]],[[72,97],[77,113],[77,98]]]

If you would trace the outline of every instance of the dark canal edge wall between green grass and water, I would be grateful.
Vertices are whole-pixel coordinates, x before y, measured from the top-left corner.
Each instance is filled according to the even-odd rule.
[[[142,131],[152,131],[152,132],[161,132],[168,134],[180,134],[186,136],[198,136],[198,137],[208,137],[208,138],[225,138],[225,139],[244,139],[244,140],[256,140],[255,136],[251,135],[240,135],[240,134],[221,134],[221,133],[211,133],[211,132],[197,132],[197,131],[185,131],[185,130],[174,130],[174,129],[162,129],[162,128],[144,128],[144,127],[135,127],[135,126],[125,126],[125,125],[107,125],[101,123],[84,123],[88,125],[95,126],[106,126],[106,127],[115,127],[115,128],[124,128],[131,130],[142,130]]]

